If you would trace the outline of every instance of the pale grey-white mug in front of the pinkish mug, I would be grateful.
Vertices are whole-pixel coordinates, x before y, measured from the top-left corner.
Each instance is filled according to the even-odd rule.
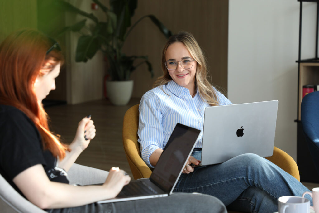
[[[279,197],[278,213],[310,213],[310,201],[297,196]]]

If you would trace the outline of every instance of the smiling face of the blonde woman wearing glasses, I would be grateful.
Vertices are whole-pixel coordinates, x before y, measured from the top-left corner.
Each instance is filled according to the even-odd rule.
[[[182,61],[185,58],[193,60],[188,49],[182,42],[175,42],[168,46],[165,54],[166,61],[176,60]],[[194,61],[193,66],[189,69],[184,69],[181,62],[178,62],[175,70],[167,70],[171,78],[180,86],[188,88],[190,95],[195,93],[195,74],[197,62]]]

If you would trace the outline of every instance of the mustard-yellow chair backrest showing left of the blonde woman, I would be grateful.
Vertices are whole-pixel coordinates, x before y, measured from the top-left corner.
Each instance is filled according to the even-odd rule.
[[[140,145],[137,142],[138,106],[139,104],[128,109],[123,120],[123,146],[134,179],[149,178],[152,174],[141,158]]]

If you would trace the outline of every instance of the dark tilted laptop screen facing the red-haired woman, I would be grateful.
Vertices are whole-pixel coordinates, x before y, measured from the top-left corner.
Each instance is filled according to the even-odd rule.
[[[167,141],[150,180],[169,193],[192,151],[200,130],[177,124]]]

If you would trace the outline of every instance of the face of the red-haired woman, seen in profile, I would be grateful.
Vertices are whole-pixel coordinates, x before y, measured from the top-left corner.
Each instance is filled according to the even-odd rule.
[[[61,63],[53,66],[54,61],[46,61],[43,69],[34,82],[35,95],[39,102],[41,102],[47,95],[49,95],[51,90],[56,89],[56,77],[60,74]]]

